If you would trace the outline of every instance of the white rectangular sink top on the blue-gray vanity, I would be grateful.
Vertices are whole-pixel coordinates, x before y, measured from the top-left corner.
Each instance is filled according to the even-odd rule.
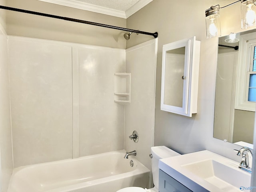
[[[192,191],[235,192],[250,187],[239,163],[208,150],[160,160],[159,168]],[[241,190],[240,190],[241,188]]]

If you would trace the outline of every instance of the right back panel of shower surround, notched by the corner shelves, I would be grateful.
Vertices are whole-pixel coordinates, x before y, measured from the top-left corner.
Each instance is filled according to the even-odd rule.
[[[124,106],[114,102],[114,73],[125,50],[79,49],[79,155],[124,149]]]

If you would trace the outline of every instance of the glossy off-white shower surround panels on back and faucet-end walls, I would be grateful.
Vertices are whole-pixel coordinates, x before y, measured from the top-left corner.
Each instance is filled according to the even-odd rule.
[[[156,44],[124,50],[8,36],[14,167],[132,148],[150,169]],[[117,72],[132,74],[127,106],[114,102]],[[135,129],[137,145],[127,140]]]

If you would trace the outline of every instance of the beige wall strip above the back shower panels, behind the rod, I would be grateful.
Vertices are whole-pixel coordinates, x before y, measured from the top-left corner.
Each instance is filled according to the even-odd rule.
[[[126,28],[126,19],[38,0],[8,0],[7,6]],[[32,14],[7,11],[7,34],[125,48],[124,32]]]

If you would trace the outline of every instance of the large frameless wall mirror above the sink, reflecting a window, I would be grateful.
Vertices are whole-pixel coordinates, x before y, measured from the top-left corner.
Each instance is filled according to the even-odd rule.
[[[256,102],[255,98],[254,101],[248,99],[248,92],[250,88],[256,90],[253,72],[256,70],[253,60],[256,58],[256,48],[253,47],[256,46],[256,30],[238,33],[235,39],[239,41],[235,42],[230,36],[219,38],[214,138],[252,148]],[[248,84],[252,84],[252,76],[254,85],[246,88],[249,80]]]

